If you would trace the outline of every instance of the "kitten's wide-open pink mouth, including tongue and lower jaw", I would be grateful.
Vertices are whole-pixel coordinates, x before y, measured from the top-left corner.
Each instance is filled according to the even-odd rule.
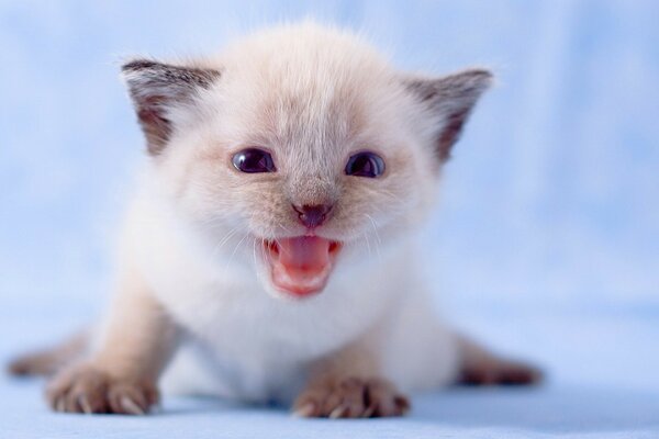
[[[270,279],[280,291],[297,297],[321,292],[327,284],[340,243],[319,236],[268,240]]]

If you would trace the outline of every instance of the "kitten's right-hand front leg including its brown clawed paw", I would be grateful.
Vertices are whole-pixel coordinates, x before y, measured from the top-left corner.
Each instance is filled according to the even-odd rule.
[[[371,344],[362,339],[317,361],[295,399],[293,413],[330,418],[404,415],[410,402],[381,375]]]

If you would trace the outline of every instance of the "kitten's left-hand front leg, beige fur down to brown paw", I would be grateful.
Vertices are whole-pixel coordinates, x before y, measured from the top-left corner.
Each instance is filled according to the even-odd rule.
[[[137,274],[121,282],[105,323],[90,358],[48,383],[46,397],[57,412],[143,415],[158,402],[156,382],[177,330]]]

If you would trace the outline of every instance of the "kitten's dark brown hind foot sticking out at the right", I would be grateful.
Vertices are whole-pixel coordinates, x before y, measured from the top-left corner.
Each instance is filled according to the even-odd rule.
[[[458,336],[460,350],[459,384],[526,385],[543,379],[539,369],[525,362],[499,357],[466,337]]]

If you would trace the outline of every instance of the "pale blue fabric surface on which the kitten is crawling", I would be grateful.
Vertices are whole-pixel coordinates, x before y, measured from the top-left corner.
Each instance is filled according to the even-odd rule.
[[[53,315],[52,309],[59,309]],[[32,309],[32,313],[27,312]],[[24,317],[30,316],[30,317]],[[47,345],[90,318],[52,303],[0,312],[0,360]],[[448,389],[414,395],[401,419],[308,420],[282,407],[165,395],[145,417],[48,410],[41,380],[0,380],[4,438],[656,438],[659,437],[659,328],[628,316],[543,316],[491,311],[462,315],[472,334],[509,353],[535,352],[547,382],[532,389]]]

